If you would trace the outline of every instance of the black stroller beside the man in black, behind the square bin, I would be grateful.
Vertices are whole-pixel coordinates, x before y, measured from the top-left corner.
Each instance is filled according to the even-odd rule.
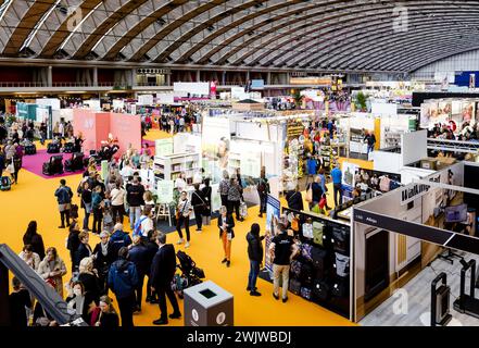
[[[186,288],[202,283],[201,279],[204,278],[204,272],[202,269],[197,268],[196,262],[185,251],[179,250],[176,257],[179,260],[177,268],[181,271],[181,274],[175,274],[172,289],[179,298],[184,298],[182,291]]]

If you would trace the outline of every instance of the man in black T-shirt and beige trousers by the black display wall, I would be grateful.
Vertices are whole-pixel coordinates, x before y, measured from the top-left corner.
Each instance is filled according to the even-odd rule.
[[[285,224],[278,224],[279,233],[273,237],[268,252],[273,259],[274,291],[273,297],[279,300],[279,278],[282,277],[282,302],[288,301],[289,269],[291,260],[298,253],[298,247],[288,235]]]

